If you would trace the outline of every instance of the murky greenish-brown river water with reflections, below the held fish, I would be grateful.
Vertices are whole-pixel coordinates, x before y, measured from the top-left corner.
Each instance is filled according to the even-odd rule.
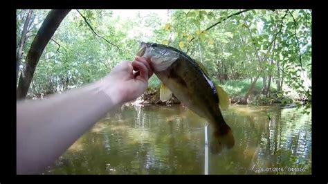
[[[209,153],[209,174],[311,174],[311,113],[241,105],[222,113],[235,147]],[[44,174],[204,174],[205,125],[180,105],[125,106]]]

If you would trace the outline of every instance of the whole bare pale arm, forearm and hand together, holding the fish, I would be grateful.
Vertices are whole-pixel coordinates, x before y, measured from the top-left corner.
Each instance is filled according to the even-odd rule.
[[[152,74],[149,60],[137,56],[92,84],[17,102],[17,174],[44,171],[111,109],[143,94]]]

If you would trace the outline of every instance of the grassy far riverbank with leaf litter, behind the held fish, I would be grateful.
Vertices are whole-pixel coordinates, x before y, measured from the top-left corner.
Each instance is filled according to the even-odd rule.
[[[230,97],[231,104],[250,104],[250,105],[270,105],[270,104],[311,104],[311,99],[300,99],[298,94],[289,89],[288,86],[284,86],[281,92],[277,91],[277,86],[274,82],[271,83],[270,88],[263,89],[262,79],[257,80],[253,90],[251,90],[250,95],[246,98],[246,93],[248,93],[251,86],[251,80],[227,80],[224,82],[219,82],[213,80],[215,83],[219,84]],[[179,100],[174,96],[167,102],[161,102],[159,100],[159,88],[161,82],[156,78],[152,77],[149,80],[149,87],[139,98],[140,104],[179,104]],[[290,93],[284,93],[283,91],[290,91]],[[311,97],[310,97],[311,98]],[[309,101],[310,102],[309,102]]]

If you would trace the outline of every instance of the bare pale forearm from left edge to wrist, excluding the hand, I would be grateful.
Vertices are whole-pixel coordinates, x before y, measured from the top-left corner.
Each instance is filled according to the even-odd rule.
[[[17,174],[33,174],[51,165],[120,103],[104,93],[103,84],[108,85],[95,82],[44,100],[17,102]]]

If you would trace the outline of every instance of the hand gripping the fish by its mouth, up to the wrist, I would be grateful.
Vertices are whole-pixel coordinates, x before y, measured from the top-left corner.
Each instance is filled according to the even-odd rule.
[[[133,62],[123,61],[117,64],[104,78],[102,84],[107,86],[103,88],[104,92],[114,104],[136,100],[145,92],[148,80],[153,75],[149,63],[145,58],[136,56]]]

